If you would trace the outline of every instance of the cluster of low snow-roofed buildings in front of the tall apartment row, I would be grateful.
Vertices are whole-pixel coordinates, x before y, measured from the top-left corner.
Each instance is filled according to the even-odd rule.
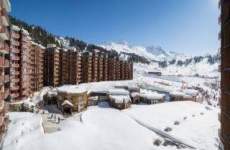
[[[63,114],[81,112],[88,106],[107,102],[116,109],[126,109],[131,104],[157,104],[165,101],[197,101],[199,92],[186,89],[174,91],[169,95],[154,90],[141,89],[138,85],[110,85],[110,83],[91,83],[81,85],[65,85],[50,90],[43,98],[43,105],[57,105]],[[100,103],[101,105],[101,103]]]

